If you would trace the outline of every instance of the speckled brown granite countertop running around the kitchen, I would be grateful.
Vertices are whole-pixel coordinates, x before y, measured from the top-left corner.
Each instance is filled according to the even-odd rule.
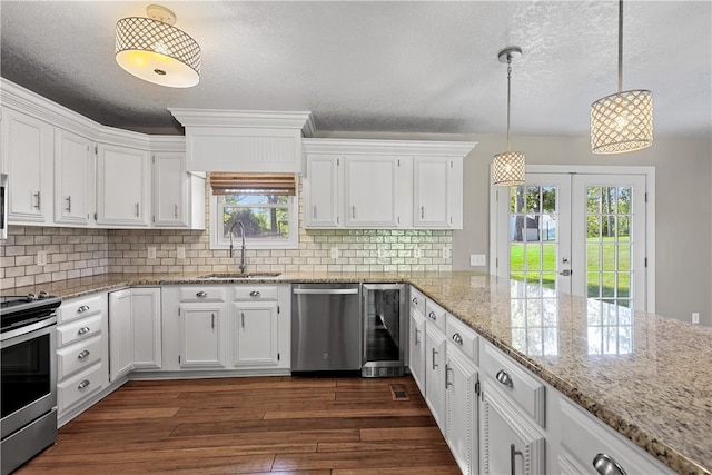
[[[137,285],[409,283],[679,473],[712,474],[712,328],[477,273],[108,274],[3,289],[65,298]]]

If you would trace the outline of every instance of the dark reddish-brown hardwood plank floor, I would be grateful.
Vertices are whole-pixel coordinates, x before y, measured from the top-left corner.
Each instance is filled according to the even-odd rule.
[[[407,400],[394,400],[392,385]],[[398,388],[396,388],[398,389]],[[411,377],[129,382],[17,474],[459,474]]]

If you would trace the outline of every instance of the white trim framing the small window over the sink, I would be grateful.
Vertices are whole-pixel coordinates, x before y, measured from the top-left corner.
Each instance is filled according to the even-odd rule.
[[[299,194],[289,196],[290,204],[286,207],[289,212],[289,237],[287,239],[245,239],[245,247],[247,249],[298,249],[299,248]],[[261,206],[250,206],[250,208],[259,208]],[[267,208],[283,208],[281,206],[265,206]],[[222,239],[222,221],[218,219],[221,217],[219,212],[220,206],[218,205],[218,195],[210,195],[210,249],[229,249],[230,243],[227,239]],[[239,246],[240,237],[235,236],[235,246]]]

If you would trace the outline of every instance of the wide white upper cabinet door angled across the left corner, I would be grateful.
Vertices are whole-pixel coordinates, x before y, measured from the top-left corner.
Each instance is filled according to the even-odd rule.
[[[97,224],[134,227],[149,224],[149,154],[99,145]]]

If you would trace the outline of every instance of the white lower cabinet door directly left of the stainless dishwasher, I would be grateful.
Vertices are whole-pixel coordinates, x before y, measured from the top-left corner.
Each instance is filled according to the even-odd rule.
[[[279,314],[276,301],[235,303],[236,366],[276,366],[279,364]]]

